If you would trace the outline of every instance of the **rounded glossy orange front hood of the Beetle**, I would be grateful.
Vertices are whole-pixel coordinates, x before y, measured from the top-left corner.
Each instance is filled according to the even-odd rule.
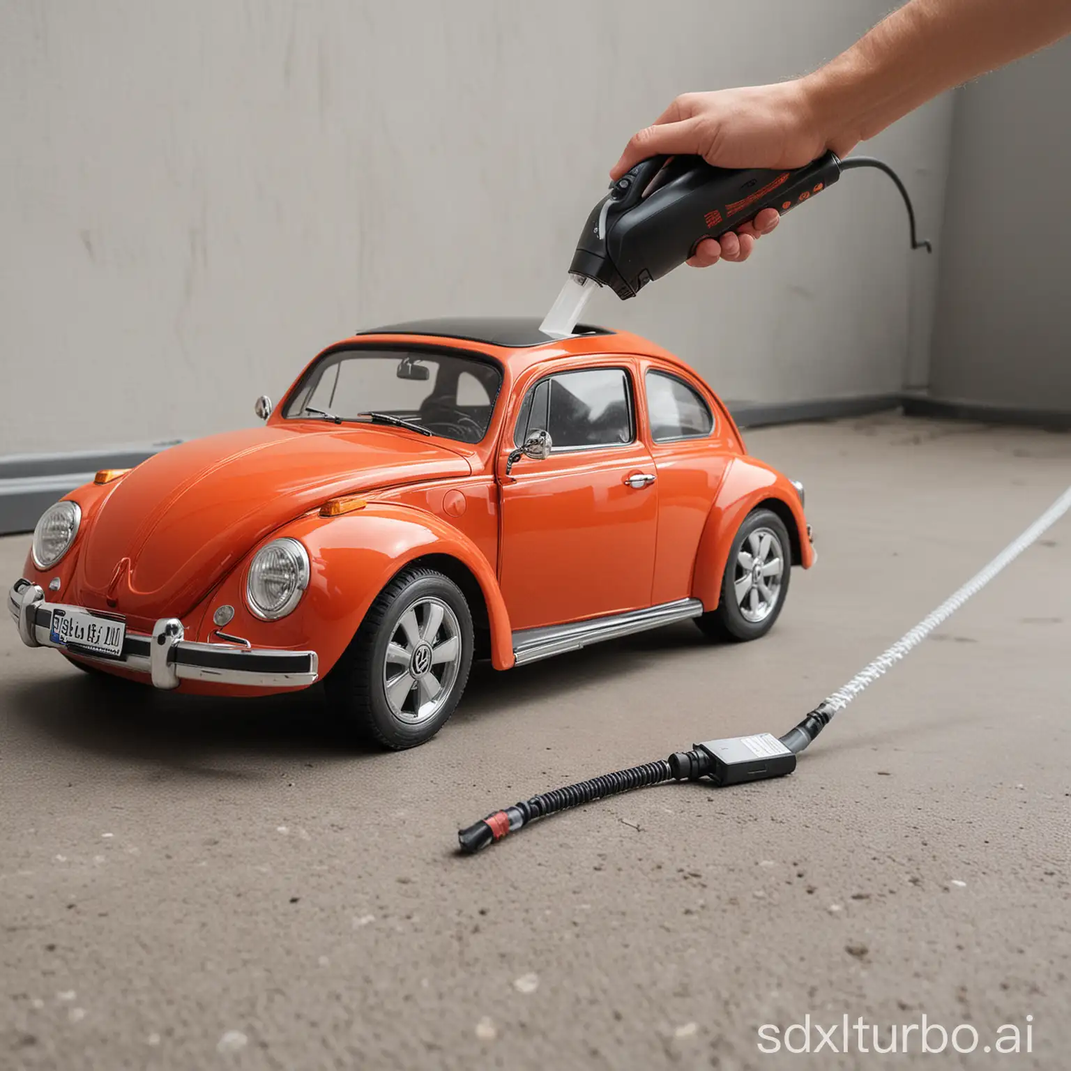
[[[172,447],[124,476],[85,537],[87,605],[188,613],[270,532],[328,498],[466,477],[447,447],[371,427],[269,425]]]

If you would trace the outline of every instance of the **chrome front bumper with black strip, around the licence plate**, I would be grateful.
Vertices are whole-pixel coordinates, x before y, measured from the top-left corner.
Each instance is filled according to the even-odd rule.
[[[7,592],[7,608],[27,647],[55,647],[102,666],[119,666],[144,674],[154,688],[178,688],[183,680],[245,688],[307,688],[317,678],[316,651],[276,651],[193,643],[183,637],[182,622],[174,617],[161,618],[153,627],[151,636],[127,632],[119,658],[66,647],[51,638],[52,610],[78,610],[84,607],[46,603],[44,591],[27,579],[16,580]]]

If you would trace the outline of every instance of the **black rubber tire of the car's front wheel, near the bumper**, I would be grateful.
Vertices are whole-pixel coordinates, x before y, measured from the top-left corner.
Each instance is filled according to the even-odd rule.
[[[426,608],[444,606],[441,624],[426,639],[423,631],[431,627],[426,617]],[[408,632],[403,618],[412,610],[414,620],[421,629],[421,642],[413,645],[409,670],[399,669],[390,677],[391,666],[401,666],[392,661],[390,651],[406,647]],[[425,613],[423,620],[421,613]],[[452,614],[452,617],[451,617]],[[407,619],[408,620],[408,619]],[[408,622],[411,628],[411,621]],[[439,672],[436,664],[427,662],[427,669],[418,679],[412,667],[418,665],[421,652],[417,648],[427,647],[426,657],[434,659],[435,652],[449,644],[451,635],[457,640],[457,660],[451,657],[450,665],[438,663],[442,681],[447,682],[440,692],[429,700],[434,710],[423,716],[419,709],[420,698],[424,696],[421,681],[426,681],[428,674],[439,683]],[[401,643],[395,637],[401,637]],[[442,637],[436,646],[436,636]],[[365,614],[361,627],[357,630],[349,647],[325,678],[323,690],[328,703],[337,709],[353,727],[357,734],[367,742],[402,751],[414,748],[417,744],[431,740],[449,721],[454,712],[465,684],[468,681],[472,665],[472,615],[461,588],[449,577],[434,569],[414,567],[405,569],[379,593],[376,601]],[[396,696],[403,694],[406,673],[412,677],[413,684],[405,693],[403,704],[396,703]],[[449,677],[449,681],[448,681]],[[388,680],[396,681],[392,694],[395,702],[388,696]],[[442,690],[447,695],[442,697]],[[416,692],[416,695],[413,695]],[[404,707],[411,705],[414,711],[406,712]],[[401,709],[398,709],[401,708]]]

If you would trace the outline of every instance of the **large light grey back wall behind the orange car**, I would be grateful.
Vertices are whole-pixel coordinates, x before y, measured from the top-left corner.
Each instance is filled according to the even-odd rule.
[[[888,6],[0,0],[0,454],[250,424],[358,328],[542,315],[637,125],[813,67]],[[868,147],[934,238],[950,103]],[[591,316],[728,398],[895,391],[924,367],[936,271],[905,227],[856,172],[746,267]]]

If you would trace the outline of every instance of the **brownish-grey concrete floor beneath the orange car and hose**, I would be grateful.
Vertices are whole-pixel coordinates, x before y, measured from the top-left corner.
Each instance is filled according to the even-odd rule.
[[[1071,516],[791,778],[648,789],[454,854],[458,825],[534,791],[786,730],[1071,482],[1071,437],[1041,432],[880,417],[748,438],[805,481],[820,552],[766,639],[685,624],[478,668],[405,754],[353,753],[318,692],[102,687],[4,615],[0,1067],[922,1060],[759,1052],[759,1026],[809,1013],[864,1016],[883,1044],[923,1014],[969,1023],[979,1050],[1002,1024],[1025,1050],[1029,1025],[1014,1066],[1068,1067]],[[4,587],[26,545],[0,541]],[[987,1066],[941,1064],[968,1065]]]

